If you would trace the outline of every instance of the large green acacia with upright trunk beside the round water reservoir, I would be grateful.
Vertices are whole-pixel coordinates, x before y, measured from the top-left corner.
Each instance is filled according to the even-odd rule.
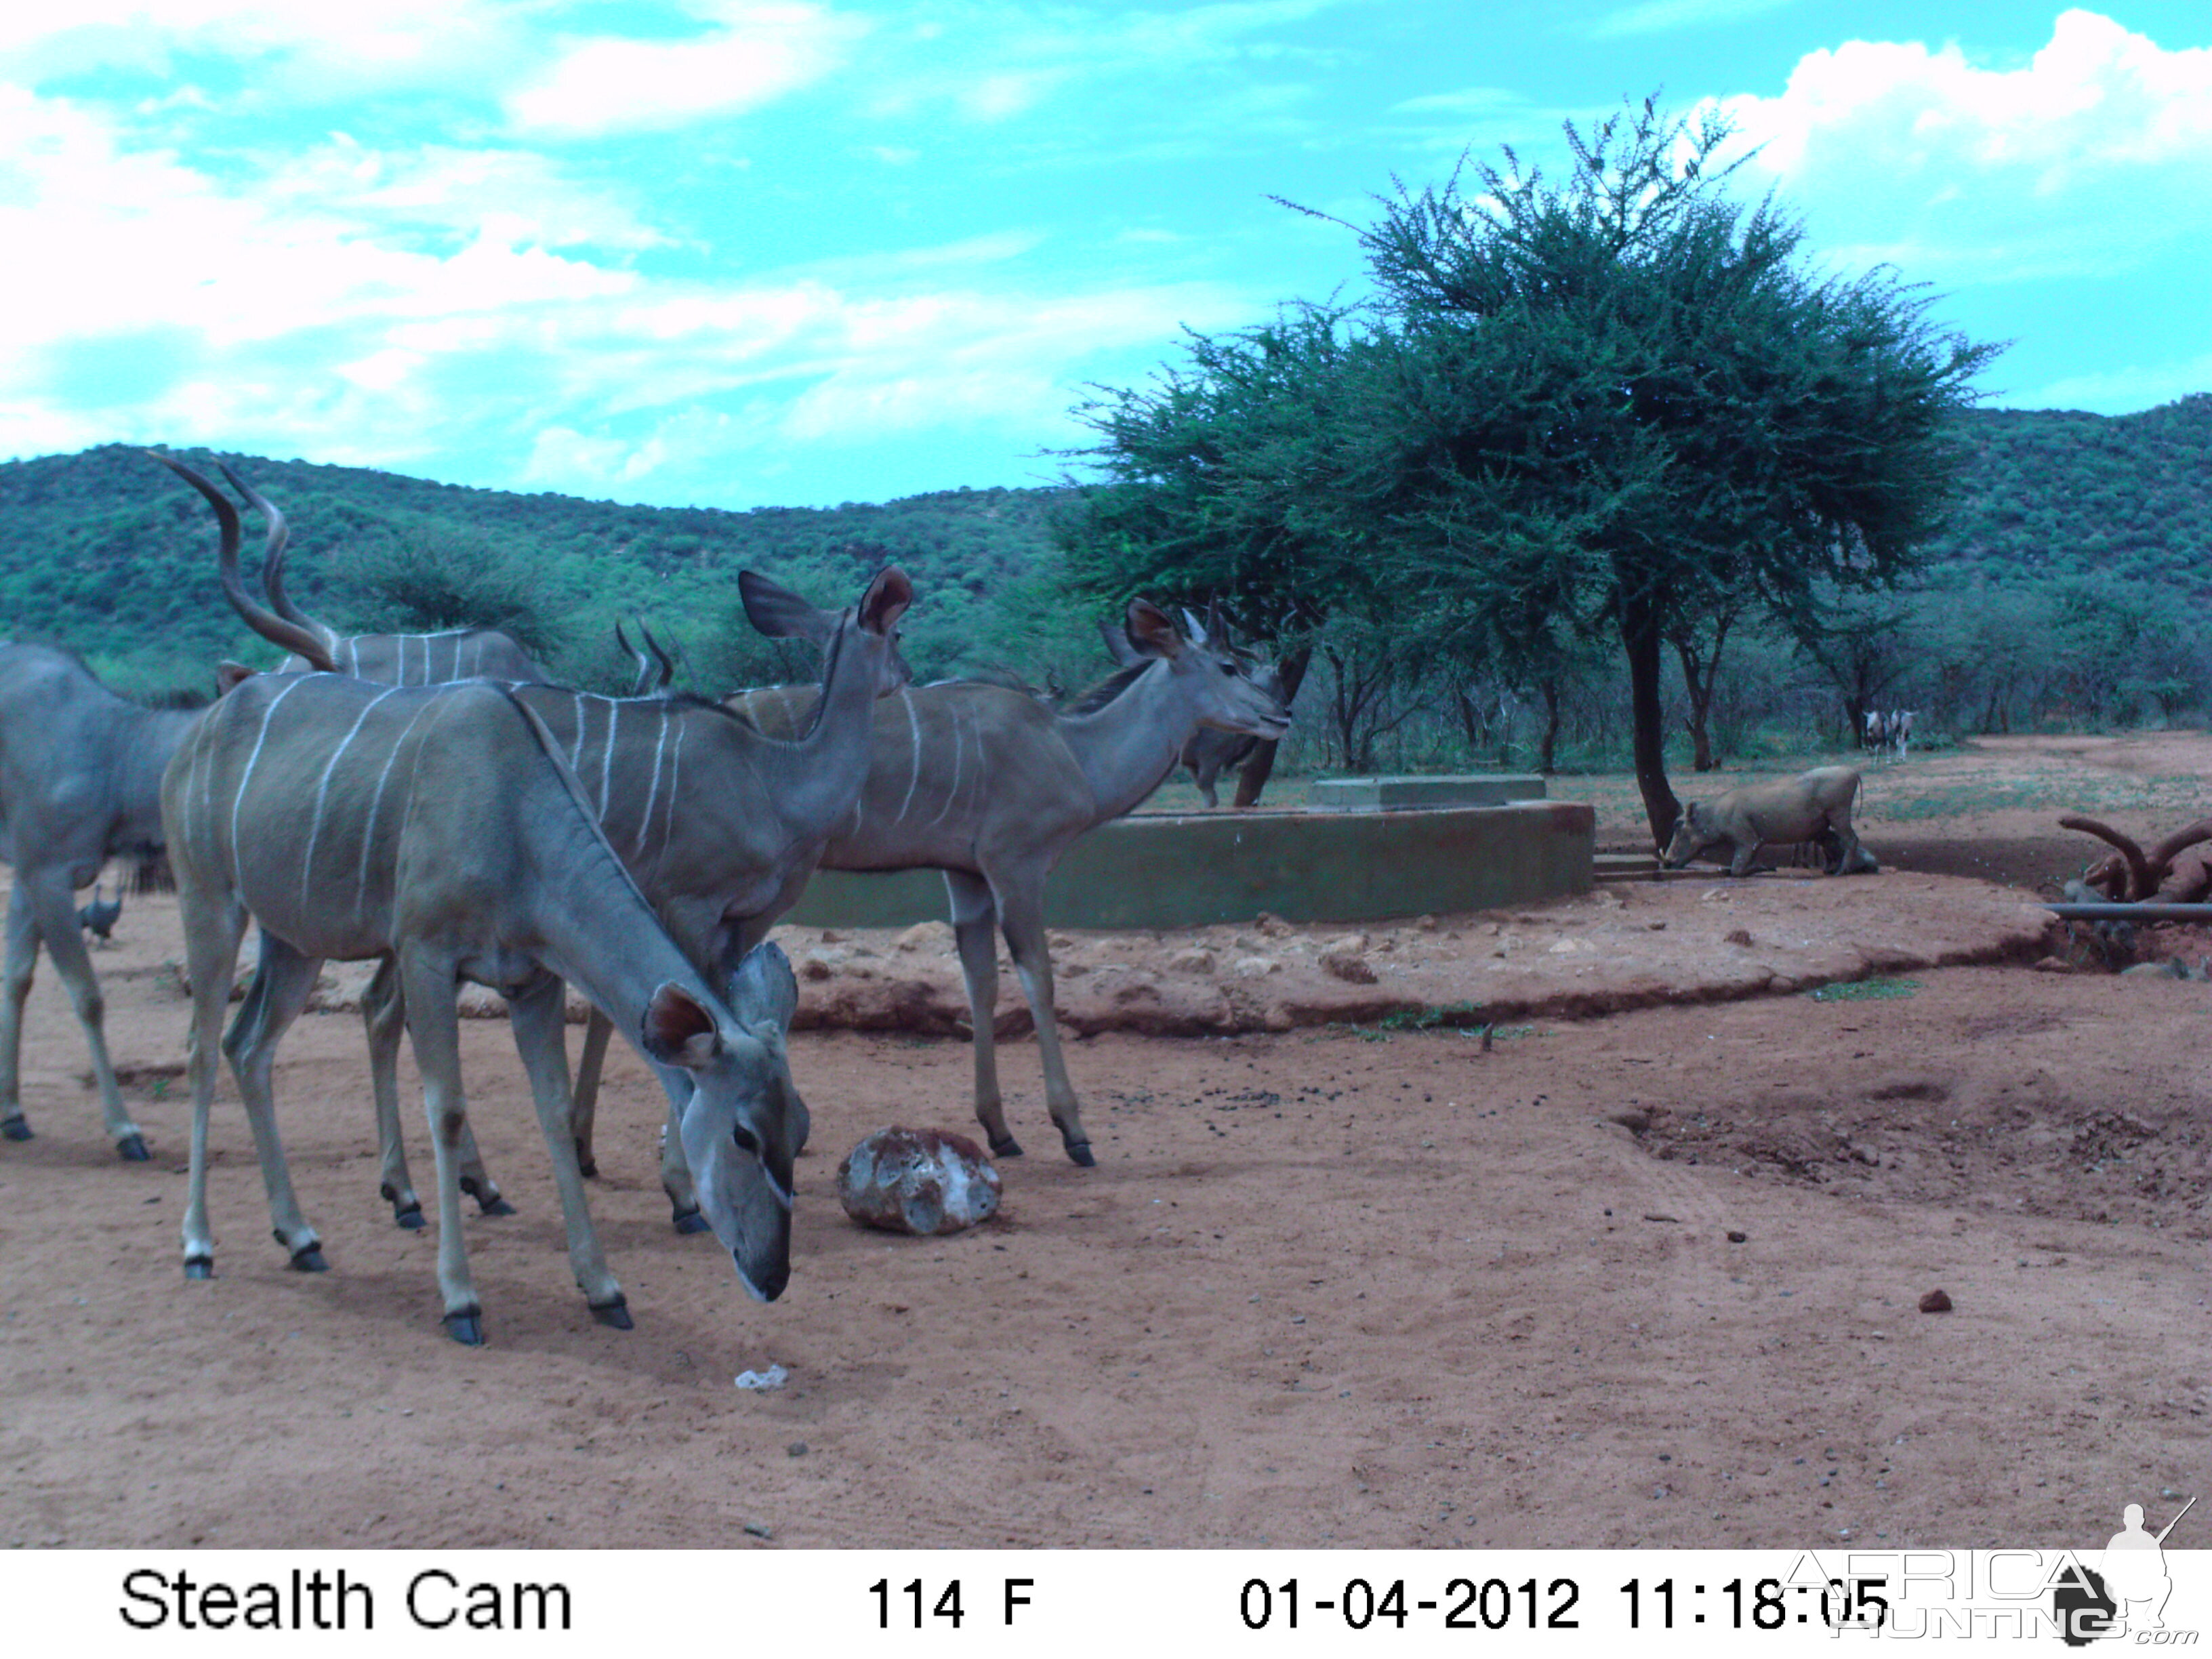
[[[1522,664],[1613,635],[1666,841],[1668,641],[1747,608],[1818,630],[1825,593],[1893,584],[1997,352],[1887,270],[1814,276],[1772,199],[1725,195],[1728,137],[1646,100],[1568,124],[1557,186],[1511,148],[1398,186],[1358,230],[1369,305],[1192,336],[1188,369],[1079,411],[1110,480],[1064,535],[1079,580],[1305,628],[1358,608],[1409,648]]]

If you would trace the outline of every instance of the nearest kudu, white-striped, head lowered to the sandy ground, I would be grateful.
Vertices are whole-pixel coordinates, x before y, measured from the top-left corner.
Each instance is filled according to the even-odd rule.
[[[564,982],[659,1066],[692,1084],[677,1135],[739,1279],[774,1301],[790,1276],[796,1124],[783,1026],[796,984],[781,951],[710,984],[608,843],[568,759],[511,686],[380,686],[334,672],[257,675],[192,728],[161,779],[161,818],[192,982],[188,1279],[212,1272],[208,1108],[221,1040],[254,1130],[270,1219],[292,1265],[321,1239],[292,1192],[270,1071],[327,958],[389,958],[407,1004],[438,1159],[438,1290],[447,1332],[482,1340],[460,1225],[460,980],[509,1002],[593,1314],[628,1327],[571,1135]],[[265,949],[221,1033],[246,920]]]

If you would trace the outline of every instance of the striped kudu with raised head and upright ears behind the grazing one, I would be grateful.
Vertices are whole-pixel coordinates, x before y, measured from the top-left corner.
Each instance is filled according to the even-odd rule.
[[[210,500],[219,500],[219,491],[210,493],[212,484],[204,478],[188,469],[179,473]],[[263,504],[263,513],[268,511],[272,509]],[[234,551],[230,560],[234,566]],[[252,604],[243,584],[226,584],[226,593],[257,633],[296,648],[303,637],[296,624]],[[776,902],[794,878],[803,883],[830,830],[852,812],[869,759],[869,703],[909,679],[898,655],[898,619],[914,599],[905,573],[878,573],[860,604],[843,613],[810,606],[752,571],[739,575],[739,593],[748,617],[763,633],[823,646],[823,714],[799,741],[768,739],[723,708],[688,697],[622,701],[557,686],[513,688],[551,730],[661,922],[686,958],[708,975],[726,971],[761,942],[768,929],[745,929],[743,920]],[[418,1228],[422,1206],[398,1128],[396,1062],[405,995],[389,958],[369,982],[363,1018],[369,1029],[383,1194],[403,1228]],[[586,1124],[608,1031],[606,1015],[595,1013],[584,1046],[584,1075],[591,1084],[577,1095]],[[670,1095],[661,1183],[677,1228],[701,1232],[708,1219],[701,1217],[692,1188],[684,1139],[675,1133],[688,1084],[668,1068],[661,1068],[661,1082]],[[796,1148],[807,1124],[796,1093],[790,1110],[799,1126]],[[582,1148],[588,1175],[588,1137]],[[487,1212],[507,1210],[467,1133],[460,1137],[460,1170],[462,1190]]]

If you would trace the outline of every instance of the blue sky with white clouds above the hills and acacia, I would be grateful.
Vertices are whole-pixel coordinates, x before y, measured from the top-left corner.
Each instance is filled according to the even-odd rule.
[[[2212,389],[2212,7],[71,0],[0,15],[0,456],[655,504],[1035,484],[1086,383],[1356,294],[1391,177],[1712,100],[2006,407]]]

